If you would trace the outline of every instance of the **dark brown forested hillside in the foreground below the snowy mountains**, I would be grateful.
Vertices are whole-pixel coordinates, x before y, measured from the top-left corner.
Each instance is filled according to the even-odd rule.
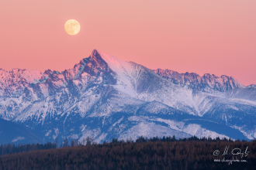
[[[0,169],[234,170],[256,167],[255,140],[231,141],[196,137],[177,140],[175,137],[150,139],[140,137],[136,141],[112,139],[111,142],[103,144],[95,144],[89,138],[86,145],[75,144],[75,141],[71,141],[70,145],[68,141],[64,142],[63,148],[2,155]],[[71,145],[74,147],[68,147]],[[244,160],[244,162],[232,162],[229,165],[228,162],[221,162],[223,158]]]

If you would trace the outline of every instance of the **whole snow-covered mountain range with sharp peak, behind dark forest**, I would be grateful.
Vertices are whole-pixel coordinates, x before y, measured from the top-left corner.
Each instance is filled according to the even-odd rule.
[[[99,50],[61,73],[0,70],[0,118],[29,131],[29,136],[11,132],[9,142],[18,143],[141,135],[256,137],[253,86],[229,76],[177,75]]]

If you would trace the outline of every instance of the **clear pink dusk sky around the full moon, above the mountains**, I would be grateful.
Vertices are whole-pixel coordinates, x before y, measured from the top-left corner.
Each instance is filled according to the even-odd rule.
[[[93,49],[150,69],[256,84],[256,1],[0,2],[0,68],[65,70]],[[64,23],[81,32],[69,36]]]

